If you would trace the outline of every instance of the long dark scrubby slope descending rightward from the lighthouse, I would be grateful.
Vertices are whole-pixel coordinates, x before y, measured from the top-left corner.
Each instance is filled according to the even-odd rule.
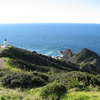
[[[7,57],[6,62],[13,67],[32,71],[78,71],[79,69],[71,63],[56,60],[51,57],[30,52],[24,49],[10,46],[1,51],[0,57]]]

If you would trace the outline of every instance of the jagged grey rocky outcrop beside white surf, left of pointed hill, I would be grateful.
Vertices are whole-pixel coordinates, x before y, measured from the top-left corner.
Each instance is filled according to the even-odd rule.
[[[62,59],[64,60],[70,60],[74,53],[71,51],[71,49],[66,49],[65,51],[59,51],[59,53],[62,55]]]

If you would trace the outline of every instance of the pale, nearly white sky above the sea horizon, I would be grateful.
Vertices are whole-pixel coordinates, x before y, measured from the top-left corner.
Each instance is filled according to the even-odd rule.
[[[100,0],[0,0],[2,23],[100,24]]]

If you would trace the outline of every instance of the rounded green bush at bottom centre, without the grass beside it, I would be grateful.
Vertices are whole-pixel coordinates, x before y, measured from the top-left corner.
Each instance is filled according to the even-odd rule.
[[[52,83],[44,86],[40,90],[39,96],[46,100],[60,100],[61,96],[65,93],[65,86],[58,83]]]

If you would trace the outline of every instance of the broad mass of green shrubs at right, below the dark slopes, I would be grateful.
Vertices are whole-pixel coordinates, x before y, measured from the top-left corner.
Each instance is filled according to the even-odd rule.
[[[95,76],[86,72],[78,71],[52,74],[49,77],[50,82],[56,81],[57,83],[61,83],[66,86],[67,89],[78,87],[81,90],[86,89],[90,84],[92,84],[94,87],[97,85],[100,86],[99,80],[99,75]]]

